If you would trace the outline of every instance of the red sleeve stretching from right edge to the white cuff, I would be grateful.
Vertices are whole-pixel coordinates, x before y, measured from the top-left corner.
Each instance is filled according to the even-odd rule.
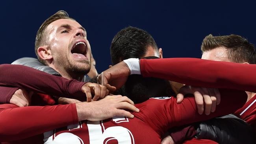
[[[141,59],[141,74],[198,87],[256,92],[256,65],[196,58]]]

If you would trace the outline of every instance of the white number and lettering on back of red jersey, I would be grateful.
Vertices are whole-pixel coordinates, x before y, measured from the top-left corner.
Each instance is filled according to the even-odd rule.
[[[128,118],[115,116],[113,121],[116,123],[129,122]],[[134,136],[129,129],[122,126],[113,126],[105,129],[102,121],[87,121],[89,142],[90,144],[107,144],[110,140],[117,140],[118,144],[135,144]],[[82,128],[82,124],[68,126],[69,131],[72,129]],[[83,140],[72,133],[61,133],[55,137],[55,132],[49,131],[44,133],[45,144],[84,144]]]

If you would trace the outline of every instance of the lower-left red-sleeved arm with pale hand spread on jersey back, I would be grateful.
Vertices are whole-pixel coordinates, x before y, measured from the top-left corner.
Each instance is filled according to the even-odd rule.
[[[54,106],[17,107],[0,105],[0,142],[32,137],[52,129],[76,124],[81,120],[99,121],[113,116],[133,118],[128,111],[139,112],[125,96],[106,96],[94,102]]]

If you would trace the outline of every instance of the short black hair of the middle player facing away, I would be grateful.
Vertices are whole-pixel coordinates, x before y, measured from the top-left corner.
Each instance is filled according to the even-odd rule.
[[[124,28],[111,42],[111,61],[115,65],[124,59],[144,57],[148,46],[152,46],[159,55],[158,46],[147,31],[132,26]]]

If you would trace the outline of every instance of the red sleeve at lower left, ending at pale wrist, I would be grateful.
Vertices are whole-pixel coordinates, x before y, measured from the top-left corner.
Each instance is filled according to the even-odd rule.
[[[0,105],[0,142],[32,137],[78,123],[76,105],[17,107]]]

